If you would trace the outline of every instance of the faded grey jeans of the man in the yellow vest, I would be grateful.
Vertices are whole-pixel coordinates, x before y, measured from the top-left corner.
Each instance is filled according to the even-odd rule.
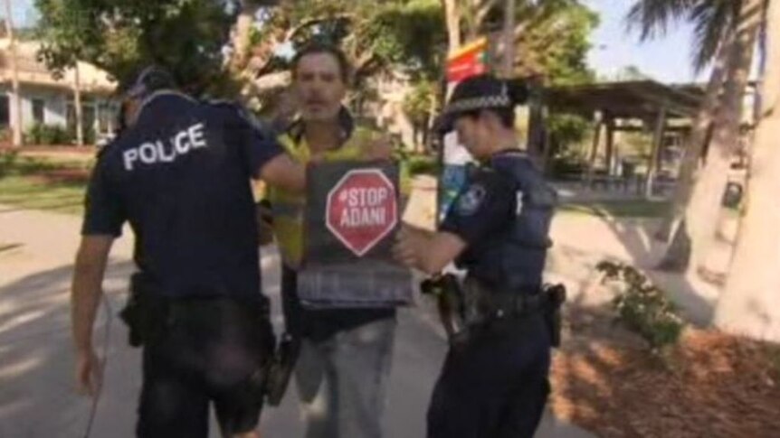
[[[380,438],[395,318],[304,339],[295,370],[307,438]]]

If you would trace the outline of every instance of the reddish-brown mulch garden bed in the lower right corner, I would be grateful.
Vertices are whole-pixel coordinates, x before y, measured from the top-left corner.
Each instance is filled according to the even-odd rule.
[[[687,329],[654,354],[606,311],[568,315],[556,415],[601,437],[780,437],[780,345]]]

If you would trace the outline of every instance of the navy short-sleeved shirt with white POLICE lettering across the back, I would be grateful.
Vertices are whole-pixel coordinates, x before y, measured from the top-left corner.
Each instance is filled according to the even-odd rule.
[[[250,180],[282,152],[239,107],[158,92],[100,155],[82,234],[118,237],[128,221],[138,267],[166,296],[257,298]]]

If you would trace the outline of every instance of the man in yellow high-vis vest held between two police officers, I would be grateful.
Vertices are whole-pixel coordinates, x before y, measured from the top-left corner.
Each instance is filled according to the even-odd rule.
[[[355,161],[381,154],[378,135],[354,126],[341,105],[348,70],[346,57],[335,47],[313,44],[297,53],[292,79],[300,120],[280,137],[294,160]],[[389,143],[385,152],[389,157]],[[283,263],[281,295],[287,330],[301,342],[295,376],[306,436],[378,438],[395,339],[395,309],[304,308],[297,294],[297,269],[303,252],[305,200],[272,187],[268,198]]]

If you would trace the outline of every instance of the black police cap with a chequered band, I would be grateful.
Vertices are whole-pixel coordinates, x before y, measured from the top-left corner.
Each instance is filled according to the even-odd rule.
[[[528,86],[522,79],[499,79],[481,74],[464,79],[452,91],[434,129],[444,135],[454,129],[455,120],[483,109],[508,109],[528,100]]]

